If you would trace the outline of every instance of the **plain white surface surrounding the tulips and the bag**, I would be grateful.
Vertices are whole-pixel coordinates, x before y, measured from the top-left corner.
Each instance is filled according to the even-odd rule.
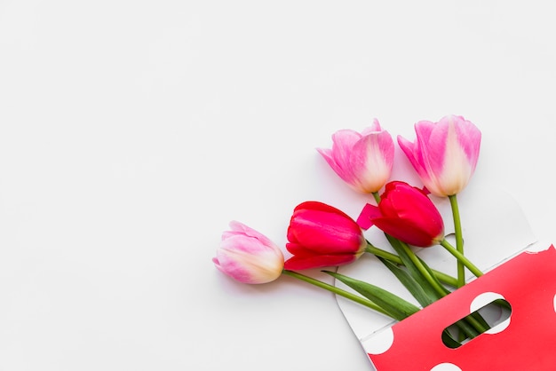
[[[483,133],[473,184],[556,241],[553,15],[0,0],[0,370],[369,369],[331,294],[228,279],[220,234],[236,219],[283,246],[306,200],[356,217],[367,198],[315,147],[463,114]]]

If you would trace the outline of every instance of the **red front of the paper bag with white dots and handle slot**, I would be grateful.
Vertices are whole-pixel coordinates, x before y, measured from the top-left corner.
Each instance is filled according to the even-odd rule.
[[[512,306],[508,320],[457,349],[442,343],[444,328],[498,297]],[[369,354],[377,371],[552,371],[556,249],[523,252],[374,339],[384,350]]]

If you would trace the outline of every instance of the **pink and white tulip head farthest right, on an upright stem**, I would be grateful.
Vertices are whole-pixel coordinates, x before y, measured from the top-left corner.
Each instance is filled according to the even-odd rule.
[[[461,192],[473,176],[481,131],[462,116],[449,115],[440,122],[415,124],[414,143],[398,136],[398,144],[413,165],[426,189],[446,197]]]

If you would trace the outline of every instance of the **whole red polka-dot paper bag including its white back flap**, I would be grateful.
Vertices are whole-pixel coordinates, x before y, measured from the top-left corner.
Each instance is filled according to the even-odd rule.
[[[449,205],[441,199],[435,202],[444,219],[449,220]],[[462,214],[465,215],[466,253],[487,272],[484,276],[474,280],[469,276],[470,282],[464,288],[458,289],[399,323],[378,313],[369,314],[369,311],[364,308],[337,297],[340,310],[359,339],[363,351],[369,354],[370,369],[377,371],[401,369],[477,371],[514,368],[552,370],[556,359],[548,350],[556,345],[556,326],[554,326],[556,325],[554,323],[556,320],[554,304],[556,253],[554,249],[552,247],[547,249],[551,246],[548,243],[536,241],[519,205],[509,194],[500,191],[497,187],[469,187],[465,198],[462,197],[461,209]],[[450,232],[453,232],[453,225],[448,224],[447,233]],[[379,241],[381,238],[380,231],[377,230],[371,229],[368,234],[373,241]],[[545,251],[536,254],[524,252],[534,249]],[[441,249],[421,249],[417,255],[427,262],[430,261],[434,269],[446,271],[453,266],[452,257]],[[362,257],[360,260],[355,264],[339,267],[338,272],[376,283],[409,301],[413,300],[405,288],[389,280],[389,272],[382,264],[373,261],[372,257]],[[532,271],[536,273],[530,274],[529,272]],[[346,288],[338,281],[335,285]],[[523,296],[524,285],[527,285],[529,290],[535,288],[535,291],[527,292],[528,295]],[[536,311],[535,305],[544,299],[536,295],[537,291],[539,293],[545,291],[548,299],[546,297],[544,299],[549,301],[548,304],[544,304],[544,309],[540,312]],[[509,326],[500,333],[482,334],[457,349],[448,348],[441,341],[442,329],[473,312],[472,303],[474,308],[478,309],[480,306],[476,305],[481,303],[481,299],[477,298],[480,296],[482,299],[502,296],[512,305]],[[528,308],[528,305],[534,308]],[[517,311],[520,311],[519,315]],[[539,317],[541,314],[542,317]],[[549,318],[547,319],[546,316]],[[539,324],[544,324],[544,327]],[[436,332],[439,328],[440,332]],[[538,342],[530,342],[532,348],[520,343],[524,336],[532,337],[531,331],[536,330],[543,333],[539,332]],[[512,351],[507,348],[510,346]],[[520,351],[514,352],[513,348],[516,347],[520,347]],[[544,356],[539,357],[539,354]],[[409,362],[409,366],[404,362]],[[511,365],[511,367],[501,365]],[[549,368],[543,368],[543,365],[548,365]]]

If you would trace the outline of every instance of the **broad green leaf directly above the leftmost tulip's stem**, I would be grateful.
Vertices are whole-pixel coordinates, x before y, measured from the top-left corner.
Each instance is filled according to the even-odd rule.
[[[340,273],[330,271],[322,272],[330,274],[332,277],[345,283],[348,287],[353,288],[362,296],[368,298],[370,301],[383,308],[394,320],[404,320],[411,314],[419,311],[417,305],[409,303],[400,296],[386,291],[384,288],[378,288],[368,282],[355,280]]]

